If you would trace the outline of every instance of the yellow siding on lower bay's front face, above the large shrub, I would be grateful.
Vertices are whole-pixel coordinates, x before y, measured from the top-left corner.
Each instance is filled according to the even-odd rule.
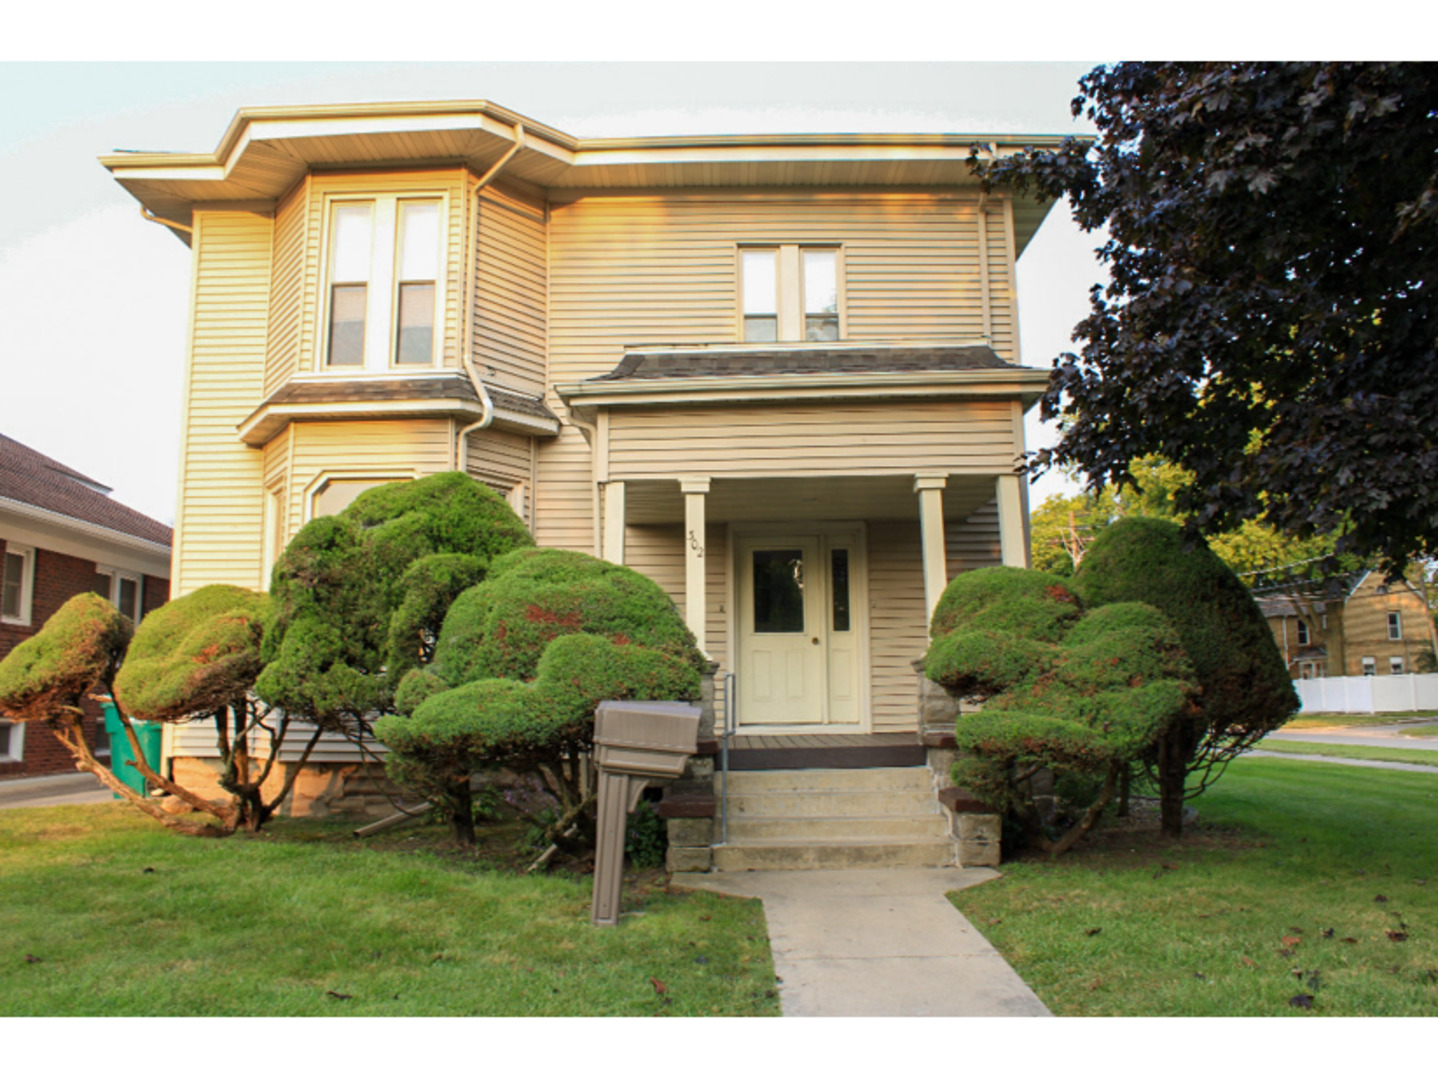
[[[449,420],[296,421],[289,525],[309,519],[309,495],[322,475],[413,479],[450,467]]]

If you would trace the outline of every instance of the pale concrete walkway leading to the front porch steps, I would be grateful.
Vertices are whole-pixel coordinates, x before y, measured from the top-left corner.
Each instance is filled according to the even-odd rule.
[[[785,1017],[1047,1017],[945,897],[994,870],[759,870],[673,884],[764,900]]]

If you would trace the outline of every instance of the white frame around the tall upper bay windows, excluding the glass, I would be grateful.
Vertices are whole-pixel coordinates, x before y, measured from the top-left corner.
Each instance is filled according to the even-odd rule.
[[[394,322],[398,318],[398,204],[407,201],[440,204],[440,250],[437,276],[434,279],[434,355],[429,367],[423,364],[395,364],[394,352]],[[371,203],[374,206],[374,220],[370,233],[370,289],[371,295],[365,303],[365,357],[364,365],[329,367],[329,272],[331,246],[334,240],[334,207],[339,203]],[[316,305],[319,311],[319,325],[315,332],[315,365],[313,372],[329,378],[354,378],[360,374],[403,374],[433,371],[444,362],[444,312],[447,309],[449,285],[449,220],[450,200],[449,191],[424,190],[414,191],[345,191],[324,196],[324,210],[321,229],[324,230],[319,252],[319,283],[321,299]],[[381,232],[383,230],[383,232]],[[381,236],[384,240],[381,242]],[[378,257],[388,255],[388,260]],[[384,312],[388,312],[385,316]],[[374,318],[378,316],[378,318]],[[374,325],[371,319],[374,318]],[[377,342],[383,341],[384,345]]]

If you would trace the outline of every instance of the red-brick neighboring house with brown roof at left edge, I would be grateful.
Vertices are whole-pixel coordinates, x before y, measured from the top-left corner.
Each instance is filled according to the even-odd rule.
[[[109,488],[0,434],[0,657],[78,592],[99,592],[137,623],[170,598],[170,528],[109,498]],[[105,751],[101,712],[85,729]],[[39,723],[0,713],[0,779],[73,769]]]

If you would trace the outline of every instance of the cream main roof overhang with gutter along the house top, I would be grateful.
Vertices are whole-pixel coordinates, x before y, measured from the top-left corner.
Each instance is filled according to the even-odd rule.
[[[464,164],[487,170],[523,128],[505,177],[557,193],[677,187],[975,187],[981,157],[1055,148],[1061,135],[833,134],[581,139],[487,101],[240,109],[213,154],[101,158],[154,216],[187,227],[197,204],[273,204],[306,173]],[[1017,250],[1051,203],[1015,197]]]

